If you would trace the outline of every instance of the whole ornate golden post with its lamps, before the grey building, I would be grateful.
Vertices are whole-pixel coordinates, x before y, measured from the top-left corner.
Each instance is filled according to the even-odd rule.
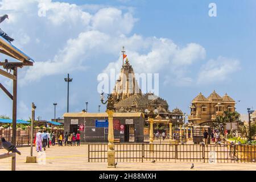
[[[109,134],[108,134],[108,168],[115,167],[115,150],[114,150],[114,127],[113,127],[113,115],[114,115],[114,100],[112,94],[108,94],[108,100],[104,102],[104,93],[101,93],[101,103],[107,104],[106,113],[108,113],[109,120]]]

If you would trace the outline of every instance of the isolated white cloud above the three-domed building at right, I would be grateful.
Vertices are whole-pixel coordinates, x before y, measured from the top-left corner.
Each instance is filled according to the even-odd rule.
[[[210,84],[228,80],[232,73],[240,69],[240,61],[220,56],[216,60],[209,60],[201,67],[197,84]]]

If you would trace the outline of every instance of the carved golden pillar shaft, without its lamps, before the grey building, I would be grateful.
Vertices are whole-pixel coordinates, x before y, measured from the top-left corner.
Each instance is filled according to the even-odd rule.
[[[109,119],[109,134],[108,134],[108,168],[115,167],[115,151],[114,151],[114,129],[113,129],[113,110],[107,110]]]

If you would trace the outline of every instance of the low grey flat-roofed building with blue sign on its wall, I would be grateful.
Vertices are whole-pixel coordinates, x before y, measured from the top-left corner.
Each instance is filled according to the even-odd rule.
[[[84,142],[108,142],[107,113],[65,113],[64,133],[81,134]],[[114,113],[114,138],[120,142],[139,142],[143,136],[143,113]]]

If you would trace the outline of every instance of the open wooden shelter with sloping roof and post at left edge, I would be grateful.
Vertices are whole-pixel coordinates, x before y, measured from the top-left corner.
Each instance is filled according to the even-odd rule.
[[[10,78],[13,80],[13,94],[11,94],[5,86],[3,86],[0,83],[0,88],[7,94],[7,96],[10,97],[11,100],[13,100],[13,135],[11,142],[13,144],[16,144],[16,115],[17,115],[17,82],[18,82],[18,68],[22,68],[24,66],[32,66],[34,60],[32,60],[29,56],[27,56],[25,53],[20,51],[18,48],[13,46],[10,42],[2,38],[0,36],[0,53],[3,55],[10,56],[14,58],[15,60],[18,60],[19,62],[9,62],[7,59],[5,61],[0,61],[0,66],[3,66],[5,69],[11,69],[13,71],[13,74],[11,72],[7,72],[3,69],[0,69],[0,75],[3,75],[7,78]]]

